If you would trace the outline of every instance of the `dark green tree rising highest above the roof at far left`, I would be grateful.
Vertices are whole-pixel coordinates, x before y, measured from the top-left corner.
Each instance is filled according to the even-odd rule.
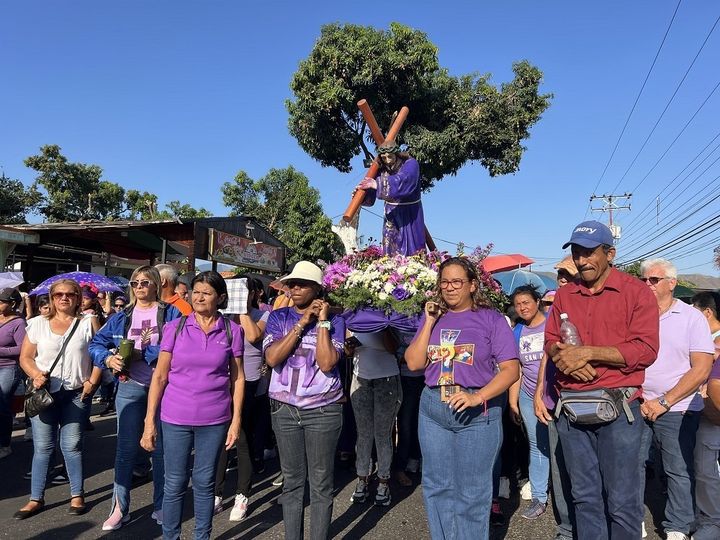
[[[42,146],[40,154],[28,157],[25,165],[39,173],[32,188],[45,190],[39,210],[48,221],[121,217],[125,190],[101,180],[103,171],[99,166],[71,163],[55,144]]]

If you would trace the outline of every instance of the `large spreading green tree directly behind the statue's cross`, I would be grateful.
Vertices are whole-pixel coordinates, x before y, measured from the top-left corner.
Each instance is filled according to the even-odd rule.
[[[357,101],[368,100],[383,129],[407,105],[410,117],[398,140],[422,165],[424,189],[468,161],[479,161],[491,176],[512,173],[523,139],[552,97],[539,94],[542,72],[527,61],[513,72],[498,89],[489,75],[449,75],[437,47],[418,30],[399,23],[389,31],[325,25],[291,82],[290,133],[323,166],[348,172],[353,157],[371,157]]]

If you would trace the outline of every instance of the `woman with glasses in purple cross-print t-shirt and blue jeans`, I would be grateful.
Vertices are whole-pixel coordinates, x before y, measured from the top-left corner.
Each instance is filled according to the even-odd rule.
[[[433,540],[450,531],[488,538],[492,469],[502,440],[499,396],[520,376],[517,347],[468,259],[440,265],[436,292],[439,306],[426,304],[405,351],[410,369],[425,368],[418,434],[430,534]]]

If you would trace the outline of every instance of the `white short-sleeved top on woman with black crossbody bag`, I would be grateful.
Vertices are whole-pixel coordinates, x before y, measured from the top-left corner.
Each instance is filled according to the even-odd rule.
[[[42,315],[28,321],[26,333],[30,343],[37,346],[35,364],[38,369],[42,371],[50,369],[74,324],[74,322],[70,324],[65,334],[58,335],[50,329],[50,320]],[[50,392],[57,392],[61,387],[75,390],[82,386],[83,381],[90,378],[92,361],[88,344],[92,336],[92,318],[81,319],[62,358],[50,374]]]

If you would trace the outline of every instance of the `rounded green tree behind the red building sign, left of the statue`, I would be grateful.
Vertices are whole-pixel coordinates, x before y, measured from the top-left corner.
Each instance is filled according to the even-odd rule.
[[[240,171],[233,182],[223,184],[222,194],[231,215],[253,217],[288,246],[288,264],[332,261],[344,252],[323,213],[320,193],[293,167],[270,169],[259,180]]]

